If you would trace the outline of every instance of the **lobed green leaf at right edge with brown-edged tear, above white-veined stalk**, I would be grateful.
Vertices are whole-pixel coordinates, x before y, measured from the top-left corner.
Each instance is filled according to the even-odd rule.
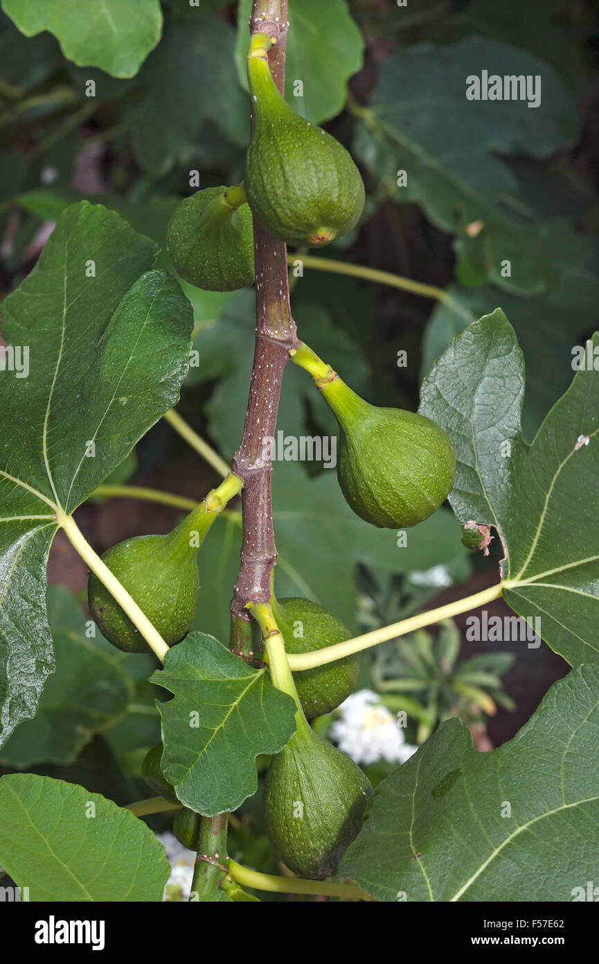
[[[505,599],[529,622],[539,617],[543,639],[577,665],[599,658],[599,372],[577,372],[531,445],[520,434],[523,392],[522,353],[498,308],[435,362],[419,411],[456,448],[459,521],[503,535]]]

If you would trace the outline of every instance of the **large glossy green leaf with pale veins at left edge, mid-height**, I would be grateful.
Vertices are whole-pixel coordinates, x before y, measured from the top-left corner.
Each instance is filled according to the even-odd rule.
[[[147,272],[155,253],[116,214],[83,201],[3,302],[2,334],[31,346],[28,376],[0,381],[3,740],[34,715],[53,669],[45,563],[56,507],[70,513],[91,495],[176,403],[187,371],[191,308],[174,279]]]

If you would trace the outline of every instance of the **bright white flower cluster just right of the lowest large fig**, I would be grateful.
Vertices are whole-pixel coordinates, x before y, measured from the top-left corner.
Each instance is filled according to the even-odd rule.
[[[418,749],[405,742],[397,719],[379,702],[372,689],[359,689],[345,700],[329,731],[343,753],[355,763],[405,763]]]

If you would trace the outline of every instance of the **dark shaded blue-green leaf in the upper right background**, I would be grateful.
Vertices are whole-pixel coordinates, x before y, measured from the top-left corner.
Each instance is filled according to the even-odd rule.
[[[541,102],[468,100],[466,77],[531,75],[541,78]],[[517,185],[496,152],[550,156],[573,143],[577,114],[552,67],[529,53],[469,37],[455,44],[417,44],[383,63],[364,124],[357,129],[359,159],[395,201],[421,203],[430,220],[458,234],[458,277],[490,281],[514,292],[539,293],[564,265],[586,256],[567,224],[522,219]],[[397,186],[397,172],[408,172]],[[510,210],[510,208],[512,210]],[[481,222],[471,237],[465,228]],[[560,231],[560,246],[554,241]],[[510,274],[503,271],[505,260]]]

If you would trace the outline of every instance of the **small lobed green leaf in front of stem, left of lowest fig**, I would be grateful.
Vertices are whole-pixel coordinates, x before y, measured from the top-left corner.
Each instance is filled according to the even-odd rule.
[[[257,789],[255,758],[296,729],[296,705],[213,636],[191,632],[150,678],[174,694],[157,704],[162,767],[186,807],[207,817],[235,810]]]

